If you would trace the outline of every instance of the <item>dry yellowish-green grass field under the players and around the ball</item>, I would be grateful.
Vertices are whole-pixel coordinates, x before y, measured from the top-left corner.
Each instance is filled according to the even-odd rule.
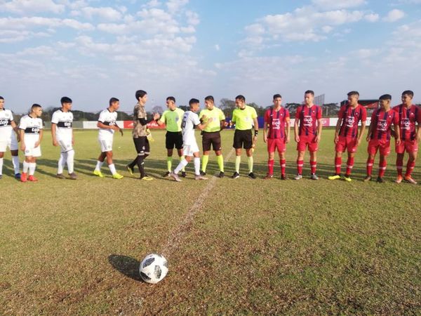
[[[0,315],[377,314],[421,313],[420,185],[363,183],[366,143],[354,180],[329,181],[333,130],[323,131],[321,180],[262,180],[267,152],[255,150],[258,179],[161,178],[164,133],[154,131],[146,169],[131,178],[131,133],[114,138],[113,180],[92,175],[95,131],[76,131],[79,179],[54,178],[59,156],[46,131],[38,183],[0,180]],[[232,131],[222,132],[226,173],[234,171]],[[198,136],[199,138],[199,136]],[[287,173],[295,174],[295,144]],[[308,154],[305,175],[309,173]],[[346,159],[344,159],[346,160]],[[174,160],[174,164],[178,159]],[[378,157],[375,162],[377,175]],[[345,164],[344,164],[345,165]],[[208,174],[217,172],[210,155]],[[279,164],[276,164],[279,171]],[[414,178],[421,180],[420,168]],[[199,199],[199,203],[195,201]],[[168,259],[166,279],[140,281],[151,252]]]

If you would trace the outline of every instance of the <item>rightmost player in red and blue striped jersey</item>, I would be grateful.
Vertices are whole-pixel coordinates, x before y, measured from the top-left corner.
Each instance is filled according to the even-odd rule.
[[[399,116],[399,128],[401,132],[401,143],[395,144],[396,150],[396,169],[398,176],[396,183],[401,183],[403,179],[412,184],[417,182],[410,176],[417,159],[418,140],[421,139],[421,109],[412,104],[414,97],[413,91],[406,90],[402,93],[402,104],[393,108]],[[417,125],[418,124],[418,125]],[[408,152],[408,163],[406,164],[405,176],[402,175],[403,156]]]

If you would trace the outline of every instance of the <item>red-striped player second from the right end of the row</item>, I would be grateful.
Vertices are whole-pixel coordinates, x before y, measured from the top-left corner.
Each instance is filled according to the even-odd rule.
[[[380,108],[375,110],[371,115],[370,129],[368,129],[368,159],[367,159],[367,176],[364,181],[371,180],[371,173],[373,171],[373,163],[377,150],[380,151],[379,162],[379,176],[377,182],[384,182],[387,161],[386,157],[390,153],[390,138],[392,137],[392,124],[394,126],[394,136],[396,137],[396,144],[401,143],[399,131],[399,116],[390,108],[392,96],[385,94],[380,96]]]

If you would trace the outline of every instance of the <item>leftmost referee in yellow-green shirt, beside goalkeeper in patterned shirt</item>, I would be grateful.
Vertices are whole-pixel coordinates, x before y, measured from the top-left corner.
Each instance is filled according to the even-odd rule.
[[[167,149],[167,171],[163,174],[164,177],[170,176],[171,167],[173,165],[173,149],[174,147],[177,149],[178,157],[180,157],[180,161],[184,158],[182,153],[182,133],[181,133],[181,122],[182,116],[184,115],[184,111],[175,105],[175,98],[173,96],[169,96],[166,98],[166,104],[168,110],[165,110],[162,113],[161,119],[156,121],[159,126],[166,124],[166,135],[165,135],[165,147]],[[181,176],[185,178],[186,171],[183,168],[181,171]]]

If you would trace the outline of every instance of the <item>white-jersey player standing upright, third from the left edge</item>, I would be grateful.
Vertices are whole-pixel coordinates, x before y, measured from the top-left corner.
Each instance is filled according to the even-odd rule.
[[[53,146],[60,145],[60,159],[58,160],[57,178],[65,179],[63,169],[67,164],[69,178],[76,180],[74,173],[74,135],[73,135],[73,113],[72,99],[62,97],[60,100],[61,109],[53,113],[51,118],[51,136],[53,138]]]

